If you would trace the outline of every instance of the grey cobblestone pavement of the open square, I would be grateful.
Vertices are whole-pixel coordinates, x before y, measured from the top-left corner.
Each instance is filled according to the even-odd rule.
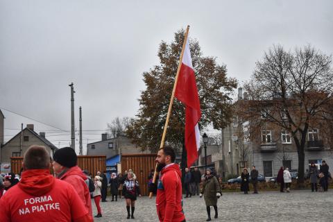
[[[139,197],[135,206],[135,219],[126,219],[125,200],[101,203],[103,217],[95,221],[158,221],[155,198]],[[92,201],[93,214],[96,206]],[[333,191],[325,193],[291,191],[281,194],[270,191],[244,195],[224,193],[218,201],[219,219],[212,221],[333,221]],[[207,214],[203,198],[184,199],[187,221],[205,221]],[[212,209],[214,216],[214,209]]]

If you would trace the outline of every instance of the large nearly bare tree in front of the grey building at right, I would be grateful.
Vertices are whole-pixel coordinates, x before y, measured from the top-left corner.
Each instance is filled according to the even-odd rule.
[[[257,135],[262,128],[275,126],[287,130],[298,152],[298,184],[304,183],[305,145],[311,128],[325,125],[332,117],[327,109],[332,103],[332,56],[311,46],[285,51],[273,46],[257,62],[245,85],[248,101],[238,105],[238,112]]]

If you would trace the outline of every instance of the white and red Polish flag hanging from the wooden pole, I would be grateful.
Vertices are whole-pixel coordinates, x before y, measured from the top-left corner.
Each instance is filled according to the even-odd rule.
[[[198,159],[200,148],[198,121],[201,117],[201,110],[188,38],[182,57],[175,96],[185,105],[185,148],[187,151],[187,167],[191,167]]]

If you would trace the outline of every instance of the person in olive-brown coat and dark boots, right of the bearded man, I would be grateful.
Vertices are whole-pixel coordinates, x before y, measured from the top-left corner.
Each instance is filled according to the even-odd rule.
[[[201,190],[200,197],[205,198],[206,210],[208,219],[206,221],[212,221],[210,217],[210,206],[214,207],[215,216],[218,218],[217,212],[217,199],[221,196],[221,187],[219,181],[216,179],[216,176],[212,175],[212,169],[208,168],[205,175],[205,181],[203,182],[203,189]]]

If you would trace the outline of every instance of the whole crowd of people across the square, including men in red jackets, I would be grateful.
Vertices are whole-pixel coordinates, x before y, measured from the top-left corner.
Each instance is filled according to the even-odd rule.
[[[197,167],[185,169],[182,175],[180,167],[175,163],[176,153],[173,148],[162,148],[156,157],[157,182],[153,183],[155,170],[148,176],[149,191],[157,194],[157,216],[160,221],[185,222],[182,210],[182,182],[185,198],[198,195],[204,198],[207,221],[211,221],[211,207],[214,218],[219,216],[217,201],[221,197],[221,178],[214,169],[207,168],[201,174]],[[127,219],[134,219],[135,202],[141,196],[139,181],[132,169],[123,174],[112,173],[110,180],[106,172],[98,171],[92,176],[87,170],[77,166],[77,156],[70,147],[58,149],[53,160],[44,146],[31,146],[24,154],[21,178],[14,173],[0,175],[0,214],[1,221],[93,221],[92,201],[96,205],[97,214],[102,216],[100,202],[108,201],[110,187],[111,201],[125,198]],[[53,167],[54,175],[50,174]],[[244,169],[241,173],[241,191],[248,194],[250,182],[253,193],[258,194],[257,183],[259,173],[255,166],[250,173]],[[329,167],[325,161],[320,169],[311,163],[309,179],[311,191],[318,191],[318,178],[322,191],[328,189],[330,178]],[[277,182],[280,191],[290,191],[291,173],[281,167]]]

